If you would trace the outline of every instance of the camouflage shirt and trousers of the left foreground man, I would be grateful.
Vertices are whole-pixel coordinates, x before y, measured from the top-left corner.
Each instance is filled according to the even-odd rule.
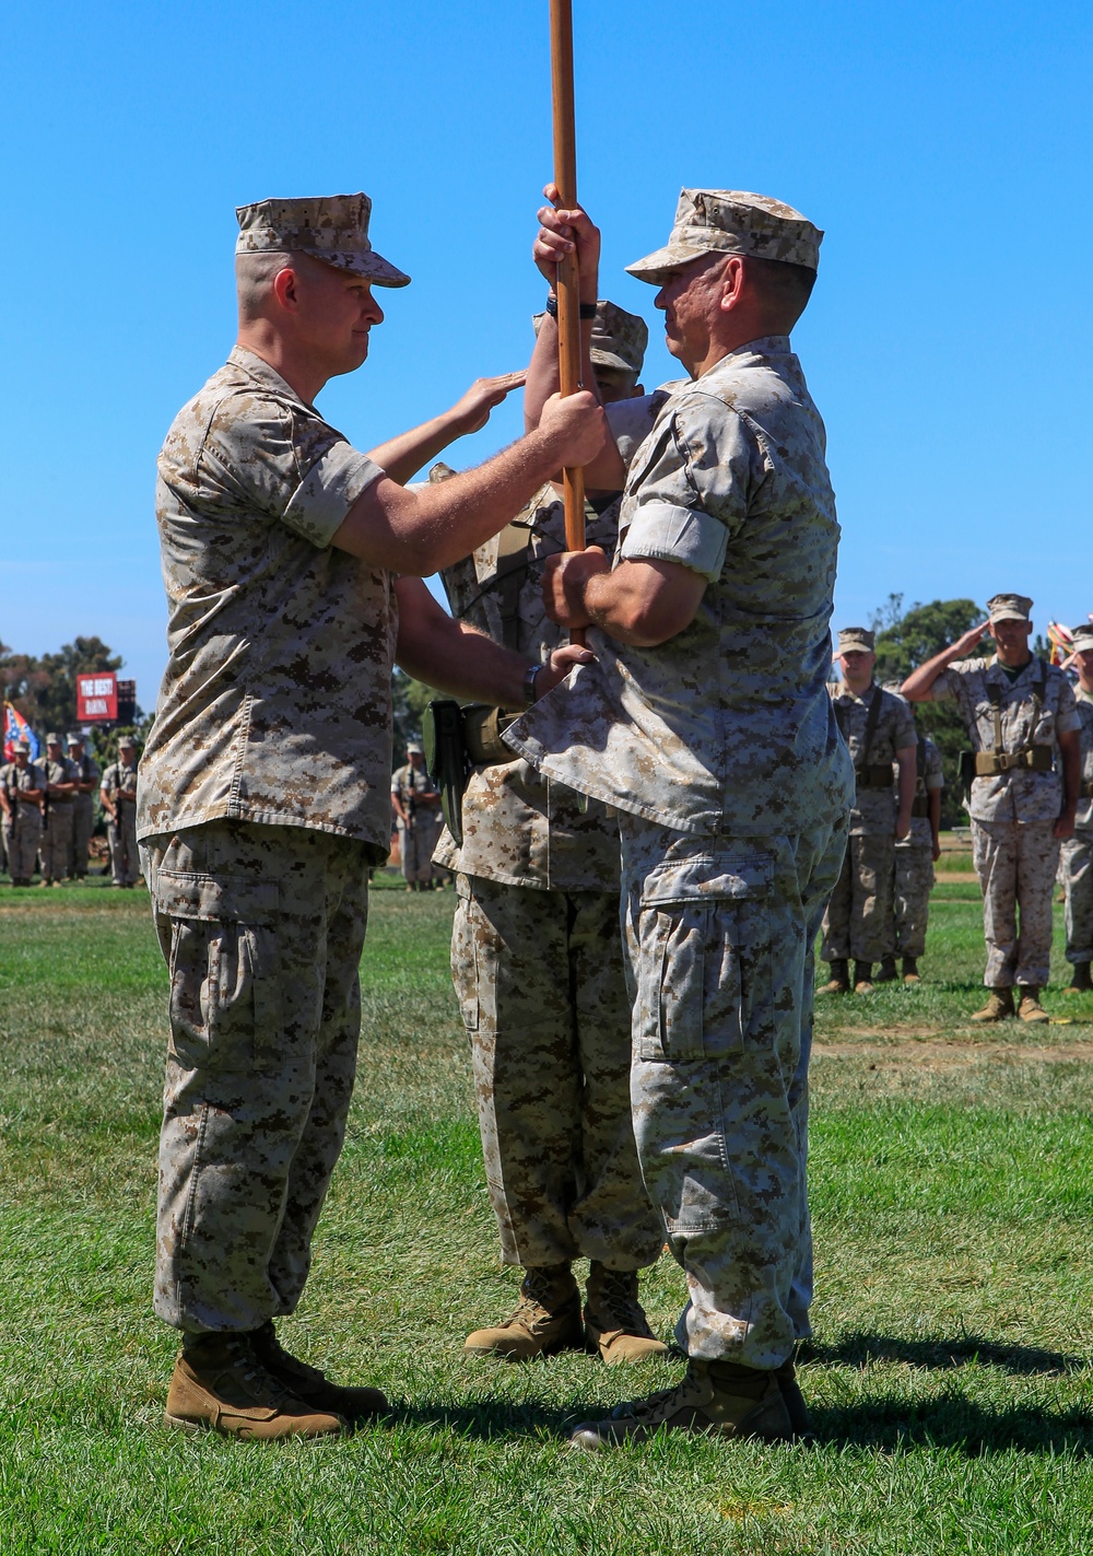
[[[171,969],[155,1312],[183,1330],[294,1310],[345,1131],[396,612],[330,541],[379,476],[241,347],[160,453],[138,836]]]

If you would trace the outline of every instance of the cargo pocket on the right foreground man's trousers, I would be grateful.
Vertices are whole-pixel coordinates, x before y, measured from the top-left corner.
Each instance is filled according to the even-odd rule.
[[[639,1057],[676,1063],[743,1046],[743,977],[770,859],[664,864],[642,884]]]

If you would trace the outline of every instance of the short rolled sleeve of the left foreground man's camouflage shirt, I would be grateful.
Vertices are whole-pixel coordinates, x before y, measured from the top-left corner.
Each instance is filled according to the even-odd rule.
[[[201,465],[213,492],[230,492],[319,549],[384,473],[317,414],[255,394],[218,408]]]

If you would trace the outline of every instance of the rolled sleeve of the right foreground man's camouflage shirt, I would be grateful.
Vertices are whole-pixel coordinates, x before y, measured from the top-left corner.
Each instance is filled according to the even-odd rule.
[[[754,429],[723,401],[697,394],[661,419],[639,462],[620,559],[675,562],[717,580],[766,475]]]

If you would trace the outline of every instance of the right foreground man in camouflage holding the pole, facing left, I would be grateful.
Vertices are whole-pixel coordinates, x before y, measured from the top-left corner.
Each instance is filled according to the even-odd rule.
[[[577,244],[595,299],[588,216],[540,221],[547,280]],[[630,266],[658,286],[687,381],[658,397],[628,471],[614,447],[586,470],[592,492],[625,482],[614,566],[552,557],[544,587],[557,621],[595,629],[599,660],[505,736],[619,811],[634,1131],[690,1295],[684,1379],[578,1427],[581,1447],[808,1430],[793,1349],[812,1298],[812,941],[852,798],[827,694],[835,499],[788,339],[819,240],[780,201],[684,190],[669,244]],[[555,381],[546,335],[529,408]]]

